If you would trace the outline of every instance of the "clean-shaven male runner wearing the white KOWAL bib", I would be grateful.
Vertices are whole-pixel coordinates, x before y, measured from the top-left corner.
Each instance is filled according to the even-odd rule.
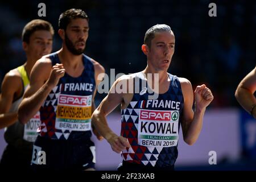
[[[113,151],[122,152],[120,171],[173,170],[180,124],[186,143],[192,145],[199,137],[213,95],[207,86],[197,86],[194,113],[191,83],[167,72],[174,47],[175,36],[169,26],[156,24],[148,29],[142,45],[147,67],[118,78],[93,113],[94,126]],[[106,122],[106,115],[119,104],[121,136],[113,133]]]

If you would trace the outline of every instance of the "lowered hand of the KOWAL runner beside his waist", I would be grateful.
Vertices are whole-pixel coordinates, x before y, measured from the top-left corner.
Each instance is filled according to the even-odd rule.
[[[120,154],[122,150],[125,150],[126,147],[131,147],[128,140],[122,136],[113,135],[108,142],[114,152]]]

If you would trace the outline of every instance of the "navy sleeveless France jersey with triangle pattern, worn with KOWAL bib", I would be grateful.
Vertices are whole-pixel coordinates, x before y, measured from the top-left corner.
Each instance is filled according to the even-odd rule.
[[[152,92],[142,72],[135,73],[139,80],[139,92],[126,109],[121,109],[121,135],[129,140],[130,148],[122,151],[126,162],[152,167],[169,167],[177,158],[177,142],[181,112],[183,111],[183,94],[179,78],[168,73],[170,86],[166,93],[150,100]],[[146,87],[141,86],[146,82]],[[135,89],[136,88],[135,85]],[[152,90],[151,90],[152,91]]]

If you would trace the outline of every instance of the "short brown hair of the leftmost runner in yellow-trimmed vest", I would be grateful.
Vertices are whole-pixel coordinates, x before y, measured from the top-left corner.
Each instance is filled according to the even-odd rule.
[[[49,31],[52,36],[54,35],[54,30],[52,24],[42,19],[34,19],[26,24],[22,31],[22,41],[29,43],[30,36],[37,30]]]

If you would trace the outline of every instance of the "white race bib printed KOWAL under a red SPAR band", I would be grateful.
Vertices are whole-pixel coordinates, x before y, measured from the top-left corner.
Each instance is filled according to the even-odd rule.
[[[139,112],[138,144],[146,147],[172,147],[179,139],[178,110],[145,110]]]

